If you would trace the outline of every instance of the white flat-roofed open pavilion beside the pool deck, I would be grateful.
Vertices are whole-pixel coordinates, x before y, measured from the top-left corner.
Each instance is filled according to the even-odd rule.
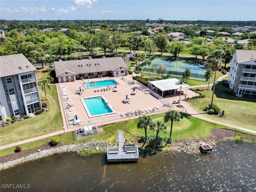
[[[164,80],[158,80],[158,81],[150,81],[149,84],[150,86],[154,85],[156,87],[156,92],[157,92],[157,89],[160,89],[162,91],[162,97],[163,97],[164,91],[180,89],[180,85],[176,85],[176,83],[179,81],[180,80],[176,78],[172,78],[172,79],[164,79]],[[181,85],[181,88],[187,88],[187,91],[188,91],[188,87],[190,86],[185,83]],[[174,96],[175,96],[175,93],[176,91],[174,92]]]

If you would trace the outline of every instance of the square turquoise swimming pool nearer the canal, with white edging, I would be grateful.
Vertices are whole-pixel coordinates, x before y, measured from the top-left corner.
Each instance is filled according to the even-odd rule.
[[[89,118],[116,113],[104,96],[81,99]]]

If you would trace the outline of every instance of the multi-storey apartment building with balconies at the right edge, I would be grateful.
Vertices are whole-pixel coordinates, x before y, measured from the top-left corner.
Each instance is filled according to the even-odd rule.
[[[235,50],[228,76],[228,84],[238,96],[256,98],[256,51]]]

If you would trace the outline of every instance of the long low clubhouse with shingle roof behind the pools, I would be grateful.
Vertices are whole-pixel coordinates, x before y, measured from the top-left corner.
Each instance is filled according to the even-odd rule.
[[[58,82],[71,82],[81,78],[101,76],[126,76],[129,68],[122,57],[83,59],[55,62]]]

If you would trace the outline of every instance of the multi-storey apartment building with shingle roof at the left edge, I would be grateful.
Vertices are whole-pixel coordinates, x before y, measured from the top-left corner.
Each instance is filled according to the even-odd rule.
[[[0,56],[0,122],[41,109],[36,68],[23,54]]]

